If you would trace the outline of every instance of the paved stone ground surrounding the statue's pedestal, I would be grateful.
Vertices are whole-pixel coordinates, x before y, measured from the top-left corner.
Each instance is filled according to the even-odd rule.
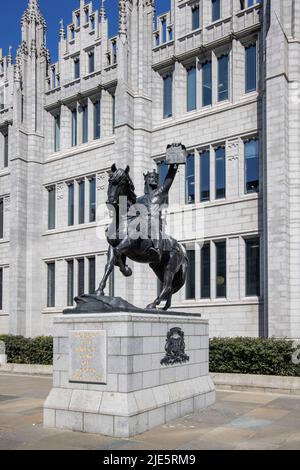
[[[45,429],[48,377],[0,374],[1,450],[299,450],[300,397],[221,391],[210,408],[131,439]]]

